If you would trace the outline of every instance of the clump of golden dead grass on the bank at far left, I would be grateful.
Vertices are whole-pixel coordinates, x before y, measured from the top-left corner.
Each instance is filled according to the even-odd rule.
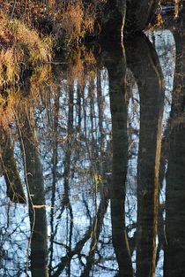
[[[0,14],[0,86],[17,83],[23,68],[49,62],[53,39],[43,39],[18,19]]]

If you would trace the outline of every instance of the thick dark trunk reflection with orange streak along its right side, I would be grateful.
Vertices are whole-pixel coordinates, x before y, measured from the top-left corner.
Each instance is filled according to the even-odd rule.
[[[128,46],[130,69],[140,96],[137,165],[137,276],[155,276],[159,207],[159,158],[163,113],[163,75],[152,44],[140,35]],[[134,45],[134,47],[133,47]]]

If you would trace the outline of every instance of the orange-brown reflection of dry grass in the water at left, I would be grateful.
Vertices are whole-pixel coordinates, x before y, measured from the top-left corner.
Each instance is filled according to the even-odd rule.
[[[29,117],[30,109],[39,107],[48,93],[55,91],[55,79],[50,65],[37,66],[24,86],[11,86],[0,94],[0,127],[8,130],[18,118],[19,124],[24,124],[25,116]]]

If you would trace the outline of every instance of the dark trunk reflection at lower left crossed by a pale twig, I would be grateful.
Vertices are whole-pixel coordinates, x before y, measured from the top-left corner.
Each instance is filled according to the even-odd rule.
[[[26,116],[20,142],[25,165],[31,225],[31,272],[33,277],[48,277],[48,226],[44,181],[33,116]]]

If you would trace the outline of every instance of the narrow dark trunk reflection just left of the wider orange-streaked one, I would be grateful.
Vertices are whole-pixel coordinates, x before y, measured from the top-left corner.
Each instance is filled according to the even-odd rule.
[[[127,103],[125,100],[126,61],[122,44],[107,49],[110,109],[113,132],[112,184],[110,185],[113,246],[119,265],[118,276],[132,277],[130,248],[125,227],[125,183],[128,164]]]

